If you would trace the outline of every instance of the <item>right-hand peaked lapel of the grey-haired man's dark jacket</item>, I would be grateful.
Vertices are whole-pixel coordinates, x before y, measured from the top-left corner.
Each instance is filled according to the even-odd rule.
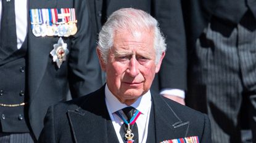
[[[155,140],[162,142],[168,139],[186,137],[189,122],[181,120],[160,95],[152,96],[155,120]]]

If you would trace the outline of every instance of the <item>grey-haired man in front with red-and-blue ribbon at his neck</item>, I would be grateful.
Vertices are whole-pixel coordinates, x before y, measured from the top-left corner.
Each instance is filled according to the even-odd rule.
[[[107,83],[50,107],[40,142],[211,142],[206,115],[151,93],[165,56],[157,21],[120,9],[99,33],[97,54]]]

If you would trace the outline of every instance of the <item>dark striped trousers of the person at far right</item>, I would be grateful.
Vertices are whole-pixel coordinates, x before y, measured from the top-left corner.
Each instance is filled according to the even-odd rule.
[[[256,142],[256,21],[250,12],[234,24],[212,17],[188,65],[186,104],[209,115],[213,143],[241,143],[249,124]],[[243,99],[246,120],[241,120]],[[241,122],[242,121],[242,122]]]

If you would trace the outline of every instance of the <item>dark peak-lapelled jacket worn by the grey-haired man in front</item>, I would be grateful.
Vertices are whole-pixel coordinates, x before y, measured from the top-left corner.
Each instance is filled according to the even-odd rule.
[[[118,142],[105,105],[104,88],[87,96],[51,106],[39,142]],[[147,142],[198,136],[210,141],[210,123],[205,114],[159,95],[152,95]]]

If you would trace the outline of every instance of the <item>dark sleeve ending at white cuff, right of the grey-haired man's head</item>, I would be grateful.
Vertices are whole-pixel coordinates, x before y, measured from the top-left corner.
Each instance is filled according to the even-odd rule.
[[[155,0],[154,16],[166,38],[167,52],[159,72],[160,90],[186,90],[186,35],[180,0]]]

